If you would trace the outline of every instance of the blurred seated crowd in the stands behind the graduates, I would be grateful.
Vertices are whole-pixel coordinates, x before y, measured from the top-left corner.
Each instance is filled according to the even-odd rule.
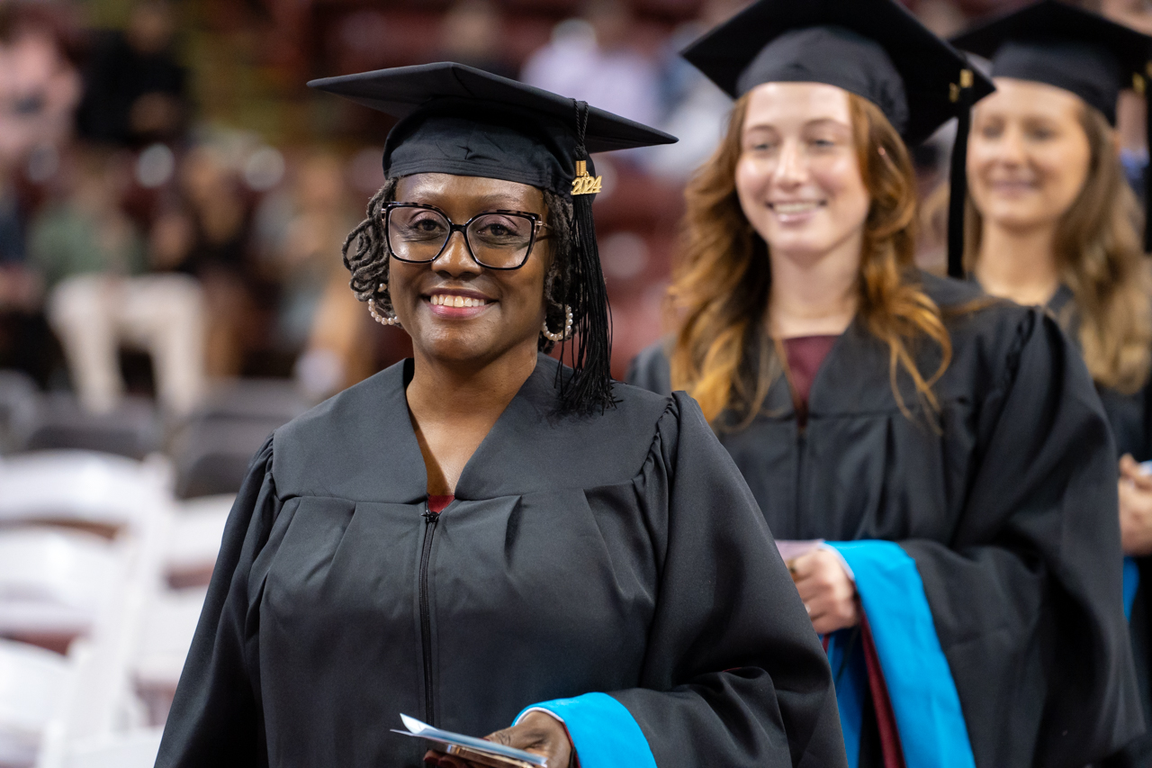
[[[132,454],[170,449],[204,398],[238,377],[291,382],[316,401],[406,356],[404,333],[372,325],[340,263],[382,181],[388,119],[304,83],[455,60],[680,136],[600,160],[622,374],[660,334],[683,181],[727,107],[676,54],[742,5],[0,2],[0,369],[69,393],[52,402],[71,421],[126,411],[143,423],[154,402],[154,439],[119,450]],[[947,35],[1013,5],[910,7]],[[1104,5],[1152,25],[1139,0]],[[1127,121],[1137,175],[1140,120]],[[925,193],[947,142],[946,130],[918,151]],[[938,243],[924,250],[931,262]]]

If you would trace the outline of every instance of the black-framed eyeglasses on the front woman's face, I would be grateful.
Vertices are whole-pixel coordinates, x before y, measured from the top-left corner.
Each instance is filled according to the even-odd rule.
[[[490,270],[518,270],[528,262],[540,229],[541,217],[524,211],[484,211],[463,224],[454,224],[434,205],[388,203],[384,232],[388,250],[410,264],[434,262],[448,247],[454,232],[464,235],[468,255]]]

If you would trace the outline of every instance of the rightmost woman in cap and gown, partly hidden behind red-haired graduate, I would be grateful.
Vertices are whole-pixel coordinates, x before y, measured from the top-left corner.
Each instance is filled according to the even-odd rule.
[[[1138,465],[1152,459],[1152,295],[1114,130],[1120,91],[1149,73],[1152,38],[1046,0],[954,42],[990,59],[996,84],[972,115],[964,265],[990,294],[1044,306],[1096,382],[1122,457],[1124,611],[1152,724],[1152,476]],[[1150,765],[1152,736],[1124,760]]]

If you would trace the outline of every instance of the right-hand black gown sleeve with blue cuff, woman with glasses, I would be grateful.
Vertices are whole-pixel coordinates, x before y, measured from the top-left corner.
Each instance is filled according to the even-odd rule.
[[[756,499],[683,393],[636,483],[660,567],[657,608],[639,687],[607,693],[639,726],[642,750],[594,759],[619,730],[601,725],[573,733],[581,765],[846,766],[824,649]],[[604,694],[538,706],[571,732],[584,716],[570,705],[589,697]]]

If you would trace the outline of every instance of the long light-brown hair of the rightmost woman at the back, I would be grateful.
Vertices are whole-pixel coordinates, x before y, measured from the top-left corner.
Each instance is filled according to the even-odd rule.
[[[1131,394],[1152,368],[1152,300],[1140,243],[1143,216],[1116,157],[1114,131],[1096,108],[1084,105],[1081,127],[1090,148],[1084,187],[1056,224],[1060,281],[1074,304],[1056,319],[1075,332],[1084,362],[1098,384]],[[984,217],[968,196],[964,264],[980,253]],[[1075,325],[1074,326],[1074,317]]]

